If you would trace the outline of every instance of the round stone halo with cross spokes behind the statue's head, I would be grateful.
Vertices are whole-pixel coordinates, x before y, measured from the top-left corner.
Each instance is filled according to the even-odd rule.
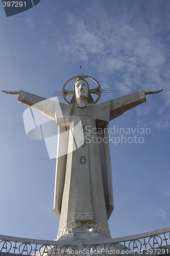
[[[90,89],[90,94],[93,93],[93,94],[97,94],[98,95],[98,98],[96,98],[96,100],[94,101],[94,103],[98,102],[100,100],[100,97],[102,95],[102,90],[101,90],[101,86],[100,86],[100,83],[95,79],[93,78],[92,76],[87,76],[87,75],[79,75],[79,76],[74,76],[74,77],[71,77],[69,80],[67,80],[65,83],[64,83],[64,86],[63,86],[63,90],[62,90],[62,96],[63,96],[63,99],[64,101],[67,103],[67,104],[70,104],[70,102],[66,99],[67,96],[69,95],[73,95],[74,94],[74,91],[70,91],[70,90],[66,90],[66,86],[67,84],[74,80],[74,79],[85,79],[85,78],[90,78],[91,80],[93,80],[97,85],[98,87],[94,88],[94,89]]]

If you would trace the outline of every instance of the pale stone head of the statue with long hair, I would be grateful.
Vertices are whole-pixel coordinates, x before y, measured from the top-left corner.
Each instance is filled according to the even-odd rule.
[[[74,95],[70,101],[71,104],[93,103],[93,98],[90,95],[88,82],[84,79],[78,79],[75,82]]]

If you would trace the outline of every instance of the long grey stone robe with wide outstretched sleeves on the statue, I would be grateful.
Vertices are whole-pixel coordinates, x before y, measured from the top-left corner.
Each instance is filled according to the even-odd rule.
[[[20,91],[18,101],[59,126],[54,211],[58,237],[95,231],[110,237],[113,189],[108,123],[144,101],[144,91],[101,104],[63,104]]]

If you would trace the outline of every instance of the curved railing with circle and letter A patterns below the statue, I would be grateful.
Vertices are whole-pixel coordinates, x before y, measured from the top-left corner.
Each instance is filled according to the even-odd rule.
[[[0,235],[0,256],[14,254],[34,256],[64,255],[166,255],[170,253],[170,227],[130,237],[101,241],[46,241]],[[15,255],[16,256],[16,255]]]

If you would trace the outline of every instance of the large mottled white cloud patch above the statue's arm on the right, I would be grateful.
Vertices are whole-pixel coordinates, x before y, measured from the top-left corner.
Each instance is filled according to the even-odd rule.
[[[127,25],[123,21],[119,24],[108,17],[105,10],[100,17],[105,24],[101,26],[100,23],[102,29],[101,27],[96,29],[99,18],[96,20],[95,16],[91,18],[91,26],[85,25],[82,18],[77,18],[71,13],[65,12],[65,17],[71,26],[62,42],[57,39],[63,51],[67,49],[68,52],[69,48],[69,52],[74,57],[84,60],[84,56],[81,56],[81,51],[84,50],[86,60],[94,58],[98,70],[105,74],[119,71],[124,74],[137,73],[152,80],[159,78],[157,68],[165,63],[166,57],[159,43],[154,45],[154,38],[149,30],[143,35],[138,28]],[[114,27],[111,24],[114,24]]]

